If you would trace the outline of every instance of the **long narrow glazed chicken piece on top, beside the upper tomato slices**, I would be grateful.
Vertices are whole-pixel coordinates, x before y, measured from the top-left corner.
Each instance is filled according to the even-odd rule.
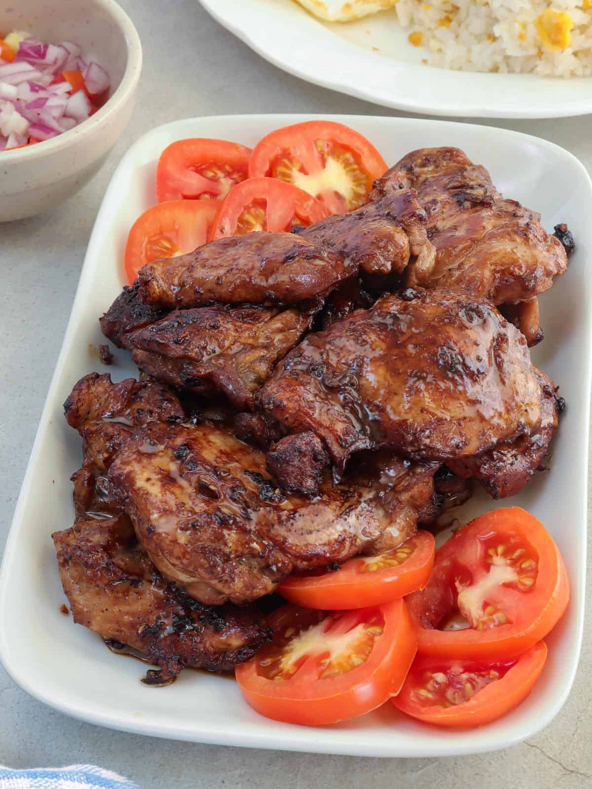
[[[354,262],[293,233],[220,238],[140,270],[143,300],[162,308],[298,304],[356,273]]]

